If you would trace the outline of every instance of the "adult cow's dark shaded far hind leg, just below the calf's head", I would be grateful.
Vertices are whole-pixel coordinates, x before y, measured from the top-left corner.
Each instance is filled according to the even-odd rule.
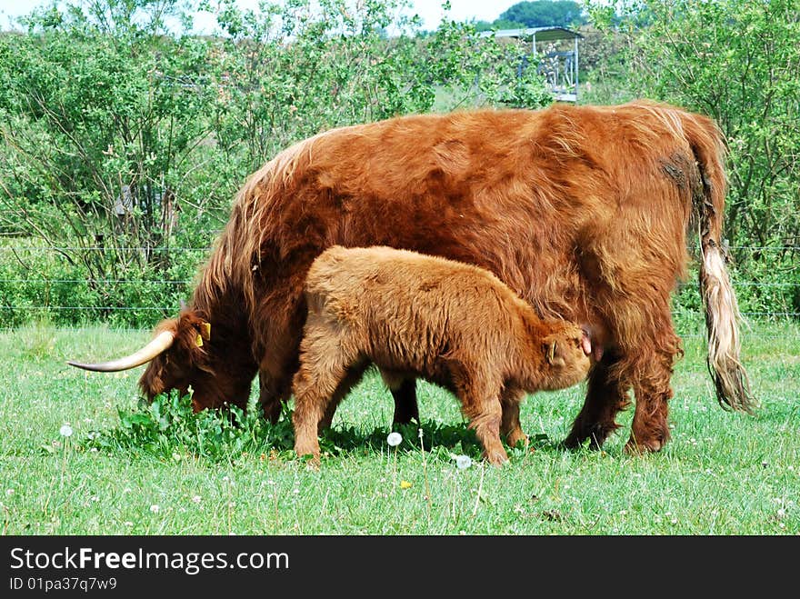
[[[599,449],[609,434],[619,424],[615,417],[630,404],[627,386],[617,373],[618,357],[607,351],[589,373],[584,407],[575,418],[572,430],[565,439],[565,446],[575,449],[589,439],[589,447]]]

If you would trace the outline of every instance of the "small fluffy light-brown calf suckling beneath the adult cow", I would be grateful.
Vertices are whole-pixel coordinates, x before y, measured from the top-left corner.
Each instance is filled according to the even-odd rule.
[[[293,422],[295,452],[315,464],[319,424],[371,363],[385,379],[422,376],[452,391],[491,464],[508,459],[500,434],[511,445],[527,440],[519,424],[525,392],[563,389],[589,372],[580,327],[543,321],[474,265],[334,245],[311,265],[305,302]]]

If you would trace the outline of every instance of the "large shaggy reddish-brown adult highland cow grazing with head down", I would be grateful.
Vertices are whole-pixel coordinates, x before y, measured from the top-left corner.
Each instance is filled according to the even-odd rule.
[[[482,266],[540,316],[588,324],[602,359],[566,445],[603,444],[633,392],[628,448],[657,451],[681,354],[670,294],[687,230],[700,240],[716,397],[755,405],[721,247],[724,155],[709,118],[649,102],[411,115],[315,135],[250,177],[189,307],[112,365],[152,360],[145,395],[191,385],[196,409],[244,406],[258,373],[275,419],[298,367],[309,266],[331,245],[389,245]],[[413,381],[393,394],[397,421],[415,415]]]

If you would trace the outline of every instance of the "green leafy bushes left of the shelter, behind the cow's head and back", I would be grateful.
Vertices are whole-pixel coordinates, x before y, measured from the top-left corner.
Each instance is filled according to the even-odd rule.
[[[175,314],[236,190],[295,141],[442,89],[446,107],[550,101],[518,50],[452,21],[419,35],[400,0],[202,4],[221,35],[167,29],[196,4],[148,0],[66,2],[0,35],[0,233],[39,248],[0,250],[0,325]],[[104,307],[62,309],[87,306]]]

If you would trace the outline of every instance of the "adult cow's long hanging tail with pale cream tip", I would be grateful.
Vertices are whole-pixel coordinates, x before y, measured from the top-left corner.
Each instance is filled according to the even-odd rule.
[[[718,127],[705,116],[688,116],[683,125],[700,174],[693,203],[700,235],[700,295],[705,307],[708,371],[720,405],[752,414],[757,402],[739,358],[741,314],[721,245],[727,187],[725,145]]]

